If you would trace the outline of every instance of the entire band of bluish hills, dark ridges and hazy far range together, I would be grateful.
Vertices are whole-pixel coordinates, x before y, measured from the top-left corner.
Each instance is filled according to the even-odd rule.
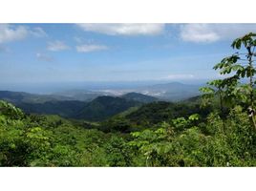
[[[99,121],[146,103],[199,96],[199,88],[199,85],[168,83],[140,87],[129,93],[131,90],[74,90],[53,95],[0,91],[0,99],[13,103],[26,113]]]

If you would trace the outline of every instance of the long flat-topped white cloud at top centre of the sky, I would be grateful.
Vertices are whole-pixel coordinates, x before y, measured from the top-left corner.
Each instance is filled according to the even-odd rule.
[[[86,32],[109,35],[156,35],[164,31],[164,24],[77,24]]]

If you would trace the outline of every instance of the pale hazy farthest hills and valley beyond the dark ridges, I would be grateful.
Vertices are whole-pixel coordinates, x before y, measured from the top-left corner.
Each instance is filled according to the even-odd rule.
[[[54,94],[55,96],[68,96],[73,100],[90,101],[97,96],[122,96],[128,93],[139,93],[144,96],[154,96],[160,100],[179,101],[192,96],[199,96],[199,89],[203,84],[182,84],[180,82],[171,82],[156,85],[140,86],[137,88],[116,88],[116,89],[98,89],[94,91],[72,90]],[[130,95],[133,96],[133,95]],[[137,97],[137,96],[136,96]]]

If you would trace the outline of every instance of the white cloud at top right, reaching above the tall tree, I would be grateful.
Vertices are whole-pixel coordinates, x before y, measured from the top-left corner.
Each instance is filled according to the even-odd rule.
[[[234,39],[246,32],[256,32],[255,24],[184,24],[181,39],[190,42],[216,42]]]

